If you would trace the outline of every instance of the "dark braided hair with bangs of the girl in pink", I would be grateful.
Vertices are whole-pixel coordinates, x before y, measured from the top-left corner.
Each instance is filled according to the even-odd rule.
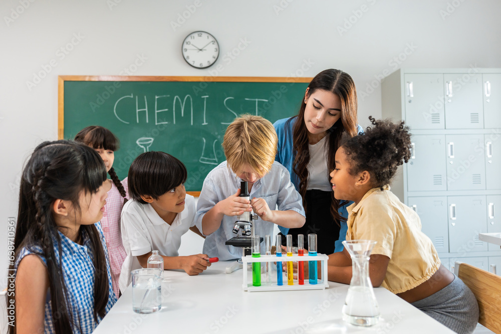
[[[102,148],[104,150],[117,151],[120,147],[118,138],[110,130],[98,125],[88,126],[80,130],[75,136],[75,141],[84,143],[95,149]],[[108,174],[110,174],[110,178],[120,192],[120,195],[125,198],[125,189],[113,167],[110,168]]]

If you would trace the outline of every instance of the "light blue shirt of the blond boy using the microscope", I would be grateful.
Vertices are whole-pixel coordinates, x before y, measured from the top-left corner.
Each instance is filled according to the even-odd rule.
[[[219,164],[207,175],[203,181],[202,191],[198,198],[196,207],[195,225],[202,231],[203,215],[212,209],[214,205],[236,193],[240,188],[241,179],[227,167],[226,161]],[[256,181],[249,192],[250,198],[263,198],[271,210],[278,209],[293,210],[305,216],[303,200],[301,195],[291,182],[291,176],[287,169],[275,161],[271,170]],[[203,253],[209,257],[219,257],[219,260],[231,260],[242,256],[242,248],[226,246],[224,243],[236,236],[233,233],[233,225],[237,220],[236,216],[224,216],[221,226],[212,234],[205,238],[203,243]],[[264,237],[273,235],[275,224],[264,221],[261,218],[254,220],[254,234]],[[264,242],[261,243],[264,249]]]

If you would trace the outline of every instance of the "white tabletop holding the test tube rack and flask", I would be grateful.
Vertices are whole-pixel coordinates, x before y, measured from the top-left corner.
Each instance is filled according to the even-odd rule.
[[[151,314],[132,310],[129,286],[94,333],[452,333],[382,287],[374,289],[380,323],[358,327],[342,320],[346,284],[329,282],[325,290],[246,292],[242,270],[226,274],[228,264],[213,263],[198,276],[165,271],[162,309]]]

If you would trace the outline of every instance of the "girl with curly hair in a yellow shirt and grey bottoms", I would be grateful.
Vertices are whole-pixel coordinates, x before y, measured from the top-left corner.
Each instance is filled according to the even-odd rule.
[[[458,333],[478,321],[471,290],[440,263],[419,216],[390,191],[397,167],[411,156],[404,122],[376,121],[364,135],[345,139],[331,172],[334,196],[350,200],[346,240],[377,241],[369,262],[374,286],[387,288]],[[346,251],[329,255],[329,280],[350,283],[352,261]]]

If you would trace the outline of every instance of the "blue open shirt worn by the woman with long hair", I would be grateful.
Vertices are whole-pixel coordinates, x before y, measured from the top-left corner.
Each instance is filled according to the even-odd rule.
[[[294,116],[296,117],[296,116]],[[296,189],[299,189],[299,177],[296,173],[294,173],[294,158],[296,155],[296,151],[294,150],[294,122],[296,121],[294,117],[283,118],[278,120],[273,124],[275,130],[277,131],[277,136],[279,138],[278,142],[278,152],[275,160],[283,164],[292,176],[292,182],[296,186]],[[363,133],[364,130],[359,125],[358,132]],[[341,216],[348,218],[348,211],[346,208],[352,204],[353,202],[348,202],[347,204],[341,206],[338,209],[338,212]],[[288,228],[279,227],[282,234],[286,235],[289,232]],[[348,231],[348,226],[346,225],[346,221],[341,222],[341,229],[339,230],[339,238],[335,241],[335,250],[334,252],[340,252],[343,250],[342,242],[346,239],[346,232]]]

